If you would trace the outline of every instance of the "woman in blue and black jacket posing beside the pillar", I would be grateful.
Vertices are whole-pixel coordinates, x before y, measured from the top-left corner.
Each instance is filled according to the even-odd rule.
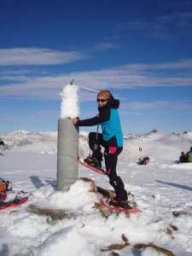
[[[89,146],[93,151],[92,155],[84,161],[97,169],[102,168],[102,147],[104,148],[104,159],[106,166],[106,174],[109,183],[115,190],[116,197],[109,202],[114,207],[123,207],[132,209],[128,204],[127,192],[121,178],[117,176],[116,166],[118,155],[123,150],[123,133],[121,131],[119,119],[119,100],[114,99],[108,90],[101,90],[97,94],[96,101],[98,103],[99,113],[90,119],[80,120],[73,118],[73,124],[77,126],[101,125],[102,134],[98,132],[90,132]],[[102,146],[102,147],[101,147]]]

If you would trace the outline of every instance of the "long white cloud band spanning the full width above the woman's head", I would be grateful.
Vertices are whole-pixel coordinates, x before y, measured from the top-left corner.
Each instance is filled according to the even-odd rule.
[[[156,64],[134,64],[82,73],[54,75],[39,73],[29,76],[20,71],[18,76],[11,73],[1,76],[1,97],[29,97],[58,99],[63,87],[75,79],[74,84],[88,86],[95,90],[140,89],[146,87],[191,86],[192,74],[189,72],[192,60],[173,61]],[[11,81],[11,83],[10,83]],[[84,97],[82,97],[84,99]]]

